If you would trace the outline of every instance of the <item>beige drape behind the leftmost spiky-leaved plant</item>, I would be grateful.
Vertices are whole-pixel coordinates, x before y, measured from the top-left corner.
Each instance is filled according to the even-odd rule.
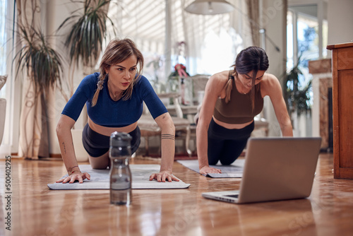
[[[17,2],[18,22],[25,28],[40,28],[40,14],[43,13],[39,0]],[[19,38],[21,45],[25,42]],[[29,71],[28,74],[31,72]],[[45,91],[35,90],[26,72],[23,73],[23,100],[20,114],[20,137],[18,156],[38,159],[49,158],[48,123]]]

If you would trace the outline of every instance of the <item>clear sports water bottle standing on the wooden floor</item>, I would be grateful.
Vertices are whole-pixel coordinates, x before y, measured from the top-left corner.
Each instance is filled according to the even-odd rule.
[[[129,205],[131,203],[131,136],[114,132],[110,136],[110,203]]]

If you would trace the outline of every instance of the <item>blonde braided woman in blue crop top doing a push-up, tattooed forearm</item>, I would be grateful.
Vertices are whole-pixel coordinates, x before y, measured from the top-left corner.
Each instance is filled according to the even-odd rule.
[[[179,181],[172,175],[175,150],[175,128],[167,109],[158,98],[147,78],[141,75],[143,55],[133,41],[112,40],[100,62],[100,73],[83,78],[76,92],[64,107],[56,126],[61,156],[68,177],[56,182],[82,183],[90,174],[80,172],[73,148],[71,129],[83,106],[87,105],[88,124],[83,129],[83,146],[94,169],[106,169],[109,164],[109,136],[114,131],[131,135],[131,151],[140,144],[138,119],[143,113],[143,102],[160,126],[162,162],[159,173],[150,175],[158,182]]]

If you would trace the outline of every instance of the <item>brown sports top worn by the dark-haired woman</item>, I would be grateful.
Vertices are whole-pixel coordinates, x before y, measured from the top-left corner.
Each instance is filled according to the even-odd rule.
[[[253,117],[263,110],[263,98],[261,97],[260,83],[255,85],[255,101],[253,110],[251,109],[251,93],[242,94],[237,90],[233,76],[233,88],[230,94],[230,100],[225,102],[225,98],[218,98],[213,116],[220,122],[228,124],[244,124],[251,122]]]

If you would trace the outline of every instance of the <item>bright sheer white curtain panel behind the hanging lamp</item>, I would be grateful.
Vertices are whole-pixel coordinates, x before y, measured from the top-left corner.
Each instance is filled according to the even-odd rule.
[[[184,11],[192,1],[179,0],[172,6],[172,19],[176,20],[172,45],[185,42],[186,66],[191,74],[229,69],[237,53],[253,44],[245,0],[229,1],[235,6],[231,13],[207,16]],[[174,54],[178,52],[174,50]]]

